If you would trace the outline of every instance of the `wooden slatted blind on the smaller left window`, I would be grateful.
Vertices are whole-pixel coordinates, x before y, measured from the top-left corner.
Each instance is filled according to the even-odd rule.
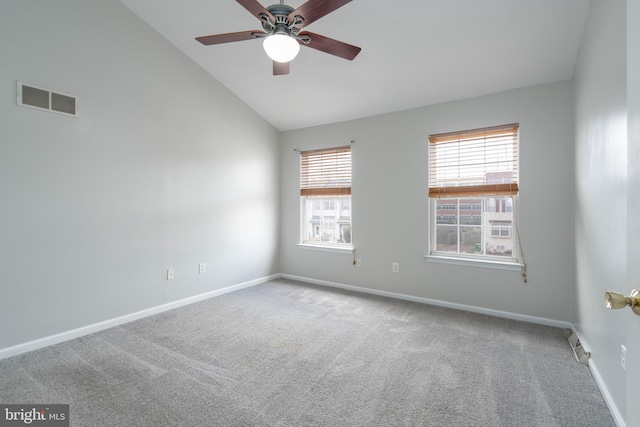
[[[326,148],[300,153],[301,196],[350,194],[351,147]]]

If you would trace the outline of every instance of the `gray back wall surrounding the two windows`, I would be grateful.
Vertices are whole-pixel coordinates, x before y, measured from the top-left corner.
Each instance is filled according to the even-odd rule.
[[[528,283],[519,272],[427,262],[427,144],[431,133],[520,123],[519,218]],[[541,85],[282,134],[284,274],[555,321],[572,320],[573,93]],[[353,162],[351,255],[299,240],[294,148],[348,144]],[[392,273],[392,262],[400,272]]]

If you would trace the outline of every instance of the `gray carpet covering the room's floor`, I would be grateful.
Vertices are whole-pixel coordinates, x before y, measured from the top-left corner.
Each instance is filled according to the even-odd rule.
[[[0,361],[72,426],[615,426],[567,331],[277,280]]]

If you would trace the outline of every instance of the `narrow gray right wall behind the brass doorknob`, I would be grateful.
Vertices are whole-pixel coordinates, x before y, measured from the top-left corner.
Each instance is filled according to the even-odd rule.
[[[625,412],[620,345],[625,317],[604,309],[627,278],[626,1],[593,0],[575,71],[574,323],[619,411]],[[631,355],[630,355],[631,356]]]

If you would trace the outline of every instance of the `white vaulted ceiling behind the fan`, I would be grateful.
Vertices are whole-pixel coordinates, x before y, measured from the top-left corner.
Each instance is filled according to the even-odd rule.
[[[303,47],[291,74],[273,76],[260,40],[195,40],[261,29],[234,0],[121,1],[278,130],[570,79],[590,4],[353,0],[305,28],[361,47],[353,61]]]

